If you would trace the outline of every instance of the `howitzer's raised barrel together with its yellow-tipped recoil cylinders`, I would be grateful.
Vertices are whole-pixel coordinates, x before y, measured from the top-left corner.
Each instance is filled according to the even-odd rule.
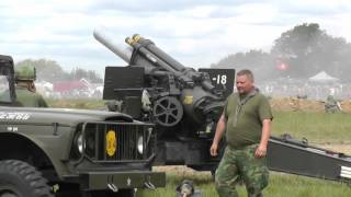
[[[200,72],[185,68],[182,63],[158,48],[150,39],[145,39],[138,34],[125,39],[125,43],[128,45],[125,45],[125,43],[114,43],[102,31],[94,30],[93,36],[128,65],[144,67],[145,73],[155,73],[155,69],[159,68],[174,74],[183,84],[186,84],[185,86],[192,88],[195,85],[195,81],[197,81],[204,90],[213,93],[215,91],[212,82]]]

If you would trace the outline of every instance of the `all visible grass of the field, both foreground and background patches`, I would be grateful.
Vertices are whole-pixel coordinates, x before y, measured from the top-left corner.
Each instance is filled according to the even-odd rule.
[[[49,101],[54,107],[102,108],[101,101]],[[322,112],[274,112],[273,136],[291,134],[297,139],[307,138],[313,144],[346,144],[351,150],[351,114]],[[336,150],[338,151],[338,150]],[[167,169],[167,167],[166,167]],[[192,179],[203,197],[217,196],[211,174],[189,170],[166,170],[167,186],[155,192],[140,190],[137,196],[173,197],[182,179]],[[238,186],[240,196],[247,196],[244,186]],[[308,178],[297,175],[271,173],[270,185],[264,190],[268,197],[350,197],[351,184]]]

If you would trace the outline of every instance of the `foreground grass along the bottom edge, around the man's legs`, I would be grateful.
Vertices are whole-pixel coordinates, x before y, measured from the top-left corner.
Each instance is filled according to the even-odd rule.
[[[183,179],[192,179],[195,188],[201,190],[203,197],[216,197],[214,182],[211,175],[179,175],[167,173],[167,186],[157,190],[140,190],[138,197],[174,197],[176,187]],[[237,187],[239,196],[247,196],[242,185]],[[271,173],[270,184],[264,189],[263,196],[268,197],[350,197],[351,185],[344,183],[321,181],[297,175]]]

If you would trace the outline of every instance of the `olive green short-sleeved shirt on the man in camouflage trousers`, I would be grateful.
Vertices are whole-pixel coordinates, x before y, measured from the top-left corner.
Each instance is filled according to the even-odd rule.
[[[227,119],[226,140],[233,148],[259,143],[263,119],[273,118],[269,101],[263,94],[256,92],[247,96],[247,100],[245,97],[240,100],[238,93],[233,93],[224,107]]]

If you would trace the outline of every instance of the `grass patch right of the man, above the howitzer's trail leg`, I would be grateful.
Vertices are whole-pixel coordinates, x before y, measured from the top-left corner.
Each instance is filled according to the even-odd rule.
[[[351,114],[274,112],[272,135],[291,134],[316,143],[350,143]]]

